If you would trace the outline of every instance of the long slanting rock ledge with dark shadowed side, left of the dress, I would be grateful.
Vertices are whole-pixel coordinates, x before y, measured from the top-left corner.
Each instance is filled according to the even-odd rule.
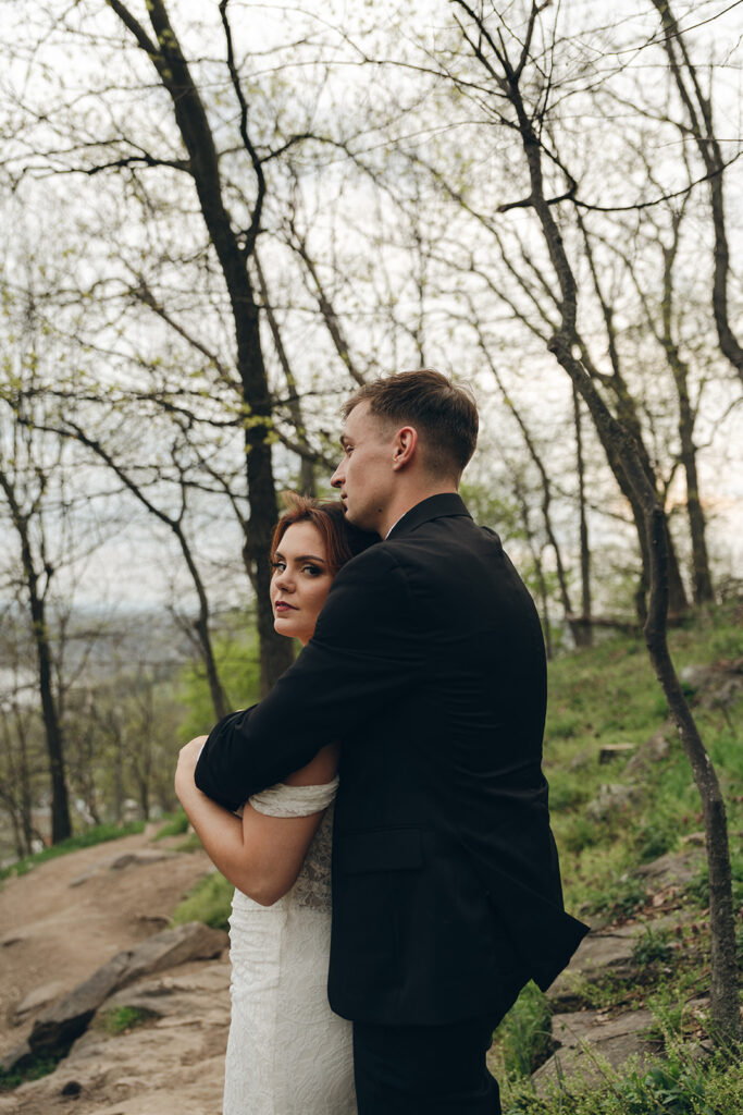
[[[165,968],[219,956],[227,941],[222,930],[193,921],[117,953],[89,979],[42,1011],[29,1035],[31,1049],[38,1053],[68,1045],[86,1030],[96,1010],[115,991]]]

